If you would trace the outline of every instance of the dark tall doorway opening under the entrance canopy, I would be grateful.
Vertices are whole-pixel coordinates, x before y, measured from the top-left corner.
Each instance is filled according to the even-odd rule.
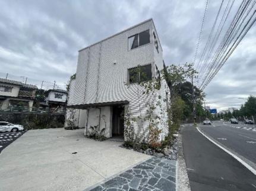
[[[112,137],[124,139],[124,106],[112,107]]]

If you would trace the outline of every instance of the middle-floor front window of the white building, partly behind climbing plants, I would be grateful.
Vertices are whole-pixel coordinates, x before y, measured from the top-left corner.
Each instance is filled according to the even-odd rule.
[[[152,79],[151,64],[128,69],[129,83],[147,82]]]

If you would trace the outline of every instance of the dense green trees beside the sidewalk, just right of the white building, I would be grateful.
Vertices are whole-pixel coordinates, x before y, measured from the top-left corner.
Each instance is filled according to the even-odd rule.
[[[193,99],[192,89],[194,89],[194,102],[197,121],[202,121],[207,116],[211,118],[208,111],[203,108],[204,92],[193,86],[192,77],[195,79],[197,71],[193,64],[184,66],[171,64],[163,70],[166,82],[170,88],[171,107],[169,111],[169,139],[179,130],[181,122],[193,121]]]

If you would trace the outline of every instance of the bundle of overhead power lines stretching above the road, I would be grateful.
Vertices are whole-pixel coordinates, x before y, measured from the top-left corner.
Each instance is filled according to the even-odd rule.
[[[211,33],[208,37],[206,46],[203,50],[203,54],[201,54],[200,61],[197,65],[197,67],[201,66],[199,76],[203,77],[203,80],[200,82],[200,89],[204,89],[208,85],[208,83],[210,83],[210,81],[217,74],[217,72],[219,72],[223,64],[226,63],[227,59],[229,59],[235,48],[245,37],[246,33],[248,33],[252,25],[255,23],[255,10],[253,14],[249,17],[249,19],[247,19],[247,17],[254,8],[256,1],[242,1],[239,5],[238,10],[236,11],[235,16],[233,17],[232,22],[229,25],[229,28],[227,28],[226,30],[222,41],[220,41],[219,46],[217,47],[216,51],[214,51],[214,47],[216,47],[217,42],[219,41],[219,37],[223,31],[227,18],[230,15],[230,11],[233,7],[234,2],[235,1],[232,0],[232,3],[230,4],[229,0],[229,2],[227,3],[222,18],[219,21],[219,27],[216,30],[216,34],[214,35],[213,40],[211,40],[211,37],[214,33],[214,28],[218,21],[220,9],[222,9],[223,6],[223,1],[222,4],[220,4],[219,11],[216,15],[213,27],[211,28]],[[200,65],[202,61],[204,64]]]

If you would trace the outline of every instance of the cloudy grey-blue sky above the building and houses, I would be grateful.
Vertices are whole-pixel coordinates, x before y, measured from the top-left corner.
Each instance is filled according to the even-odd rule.
[[[220,2],[209,1],[198,57]],[[235,1],[234,10],[240,2]],[[39,86],[56,81],[65,88],[76,71],[78,50],[148,18],[156,25],[166,65],[192,63],[205,6],[206,1],[198,0],[0,0],[0,77],[9,73]],[[255,96],[255,34],[254,25],[204,89],[206,105],[220,111],[245,102],[238,98]]]

